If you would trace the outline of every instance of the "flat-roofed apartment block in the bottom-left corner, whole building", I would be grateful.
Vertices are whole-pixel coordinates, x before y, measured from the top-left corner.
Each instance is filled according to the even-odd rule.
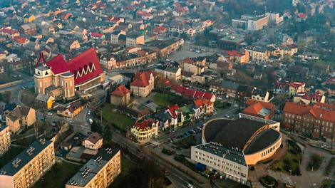
[[[53,141],[33,142],[0,169],[1,188],[32,187],[55,164]]]

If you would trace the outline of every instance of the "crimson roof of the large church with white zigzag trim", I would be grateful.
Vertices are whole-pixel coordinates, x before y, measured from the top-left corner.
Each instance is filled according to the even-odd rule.
[[[70,73],[74,74],[75,85],[91,80],[92,78],[100,75],[100,73],[103,73],[94,48],[88,49],[68,62],[64,60],[62,54],[59,54],[55,58],[51,59],[51,61],[48,61],[46,66],[48,66],[48,68],[50,68],[55,75],[70,71]],[[78,70],[85,67],[90,68],[91,72],[77,77],[76,75]],[[94,70],[92,71],[93,67]]]

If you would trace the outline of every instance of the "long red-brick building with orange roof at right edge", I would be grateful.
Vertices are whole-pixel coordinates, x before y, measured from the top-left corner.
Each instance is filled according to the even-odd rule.
[[[326,110],[317,105],[287,102],[283,112],[282,122],[287,131],[310,136],[317,140],[334,137],[334,110]]]

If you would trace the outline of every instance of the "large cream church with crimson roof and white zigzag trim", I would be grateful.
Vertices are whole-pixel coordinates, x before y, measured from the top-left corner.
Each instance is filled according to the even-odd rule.
[[[61,95],[71,98],[77,90],[87,93],[99,87],[105,81],[105,72],[101,69],[95,48],[90,48],[67,62],[62,54],[46,62],[41,53],[33,77],[36,94],[46,94],[49,90],[49,95],[54,96],[51,94],[53,91],[61,90]]]

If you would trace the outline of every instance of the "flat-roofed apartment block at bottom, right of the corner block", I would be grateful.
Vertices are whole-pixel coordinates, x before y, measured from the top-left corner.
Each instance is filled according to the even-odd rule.
[[[102,148],[66,183],[66,188],[108,187],[121,172],[120,150]]]

